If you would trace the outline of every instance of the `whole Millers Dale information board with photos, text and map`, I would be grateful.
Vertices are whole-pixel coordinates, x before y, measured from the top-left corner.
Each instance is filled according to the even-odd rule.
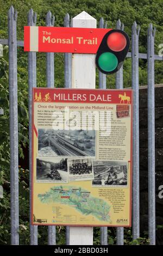
[[[130,227],[132,90],[33,88],[33,225]]]

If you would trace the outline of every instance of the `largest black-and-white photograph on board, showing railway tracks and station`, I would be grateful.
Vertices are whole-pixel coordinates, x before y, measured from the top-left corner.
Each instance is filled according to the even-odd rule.
[[[39,129],[38,156],[95,157],[95,130]]]

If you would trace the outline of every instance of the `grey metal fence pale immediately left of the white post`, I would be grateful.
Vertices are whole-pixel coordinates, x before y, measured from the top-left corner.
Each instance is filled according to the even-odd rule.
[[[64,27],[70,27],[70,15],[67,13],[64,18]],[[72,53],[65,53],[65,87],[71,88],[72,78]],[[66,245],[70,244],[70,227],[66,226]]]

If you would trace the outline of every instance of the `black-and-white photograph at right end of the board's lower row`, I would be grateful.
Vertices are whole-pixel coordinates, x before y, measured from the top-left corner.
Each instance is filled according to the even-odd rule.
[[[127,187],[127,162],[93,160],[93,171],[95,179],[92,186]]]

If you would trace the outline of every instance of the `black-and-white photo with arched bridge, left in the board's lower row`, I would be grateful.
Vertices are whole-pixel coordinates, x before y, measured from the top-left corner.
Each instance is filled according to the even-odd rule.
[[[62,157],[37,157],[36,182],[67,183],[67,159]]]

